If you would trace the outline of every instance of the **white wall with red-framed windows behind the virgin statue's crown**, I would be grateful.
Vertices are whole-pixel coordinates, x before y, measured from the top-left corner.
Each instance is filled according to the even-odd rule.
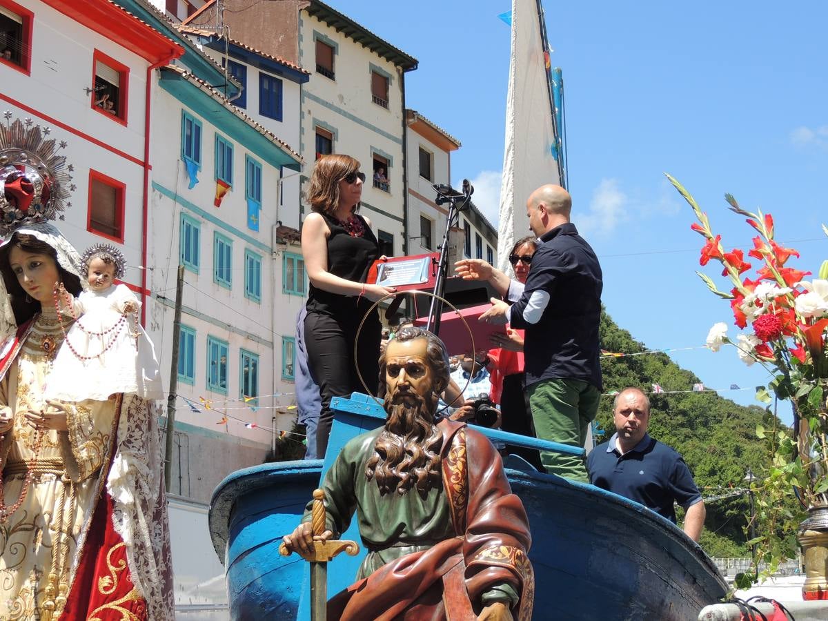
[[[34,13],[31,75],[0,65],[2,109],[12,113],[12,120],[31,118],[41,127],[50,127],[49,137],[56,142],[67,143],[61,152],[66,156],[67,163],[75,167],[71,175],[76,188],[71,192],[71,206],[65,211],[65,221],[55,224],[79,252],[93,243],[113,243],[87,230],[89,169],[126,185],[125,238],[119,248],[129,266],[124,280],[140,284],[144,103],[148,63],[43,2],[23,0],[18,3]],[[84,90],[94,86],[95,49],[129,68],[127,126],[92,108],[91,94]],[[61,128],[55,121],[75,132]],[[5,123],[5,119],[0,122]]]

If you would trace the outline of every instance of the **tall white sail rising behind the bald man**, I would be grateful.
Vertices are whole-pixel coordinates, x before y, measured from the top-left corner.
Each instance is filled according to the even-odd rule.
[[[532,190],[561,183],[553,155],[556,129],[544,52],[540,0],[512,0],[512,60],[506,99],[506,147],[500,185],[498,267],[511,273],[508,253],[532,232],[526,201]]]

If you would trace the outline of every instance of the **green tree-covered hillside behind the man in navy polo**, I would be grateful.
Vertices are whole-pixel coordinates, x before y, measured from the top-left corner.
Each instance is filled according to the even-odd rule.
[[[600,340],[601,348],[610,352],[633,354],[648,349],[605,312],[601,316]],[[628,386],[649,392],[653,383],[665,392],[691,390],[701,381],[667,354],[603,359],[601,370],[604,393]],[[596,439],[599,443],[614,432],[612,402],[613,397],[605,396],[599,408],[597,421],[605,430],[604,436]],[[740,406],[716,392],[654,394],[650,402],[650,434],[684,456],[705,498],[727,494],[731,487],[746,487],[744,477],[749,468],[757,475],[767,470],[763,440],[756,436],[756,426],[768,416],[763,407]],[[769,426],[768,421],[764,422]],[[707,517],[701,536],[705,551],[710,556],[750,556],[744,545],[748,538],[744,532],[749,517],[748,496],[705,504]]]

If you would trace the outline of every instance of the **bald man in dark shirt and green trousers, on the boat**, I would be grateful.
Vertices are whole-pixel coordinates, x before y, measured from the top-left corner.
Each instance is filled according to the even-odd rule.
[[[583,446],[601,395],[598,325],[601,267],[570,223],[572,200],[560,185],[543,185],[527,200],[529,228],[539,238],[522,293],[511,282],[509,306],[492,298],[480,316],[526,330],[526,386],[539,438]],[[542,451],[547,472],[588,482],[583,458]]]

